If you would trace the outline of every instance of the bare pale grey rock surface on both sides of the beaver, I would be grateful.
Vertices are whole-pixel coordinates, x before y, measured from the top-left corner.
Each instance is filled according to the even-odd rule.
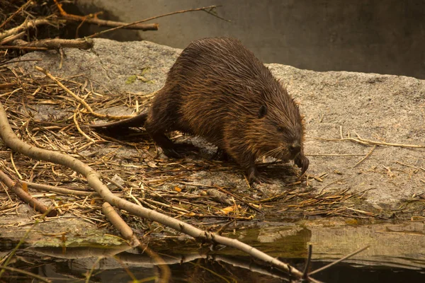
[[[34,70],[36,64],[54,76],[81,81],[89,78],[99,93],[126,91],[137,96],[161,88],[166,72],[181,52],[152,42],[103,39],[95,42],[94,50],[65,50],[67,56],[62,69],[59,68],[60,56],[53,51],[26,54],[22,59],[41,61],[21,62],[19,67],[42,76]],[[367,190],[368,202],[378,206],[395,205],[425,191],[424,148],[377,146],[373,154],[354,167],[373,146],[349,140],[322,140],[340,139],[340,133],[346,138],[349,133],[353,138],[358,134],[374,141],[425,146],[425,81],[406,76],[307,71],[280,64],[268,67],[276,77],[283,79],[289,93],[301,103],[307,129],[305,152],[310,158],[307,173],[328,174],[323,183],[310,178],[310,184],[317,191],[323,188]],[[145,68],[149,71],[144,72]],[[143,76],[145,81],[137,79],[128,83],[134,75]],[[130,112],[132,110],[128,110]],[[196,174],[219,180],[226,175]],[[232,177],[238,179],[235,182],[243,181],[240,175]]]

